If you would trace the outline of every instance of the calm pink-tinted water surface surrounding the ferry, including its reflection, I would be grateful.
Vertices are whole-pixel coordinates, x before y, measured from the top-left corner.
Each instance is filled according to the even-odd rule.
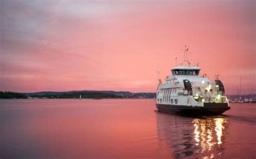
[[[153,99],[0,100],[2,158],[255,158],[256,104],[182,117]]]

